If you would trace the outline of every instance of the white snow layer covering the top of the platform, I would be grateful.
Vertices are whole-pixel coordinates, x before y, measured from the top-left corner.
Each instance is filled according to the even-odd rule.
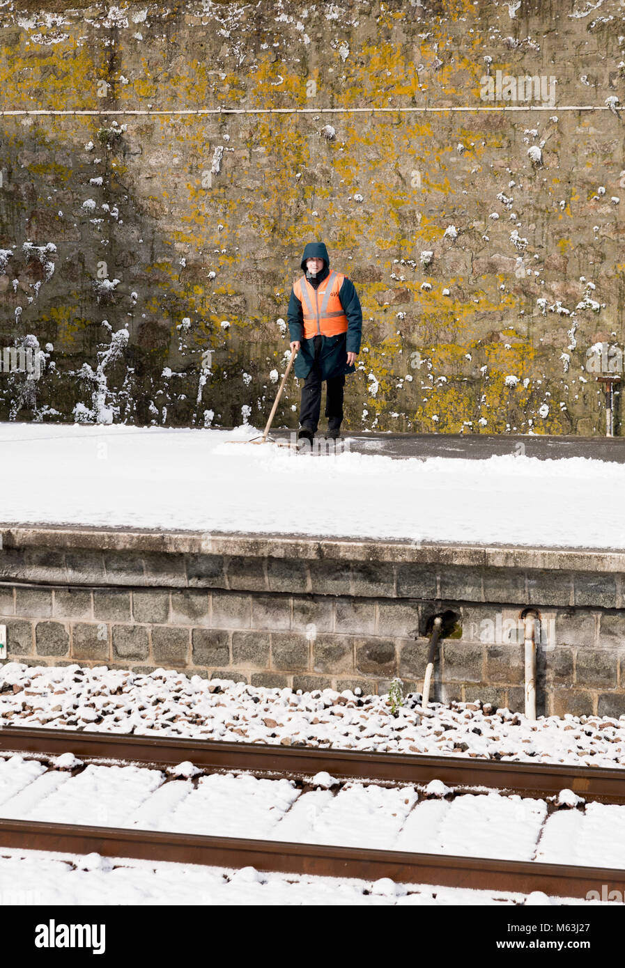
[[[255,433],[0,424],[0,515],[20,525],[602,549],[625,543],[614,515],[625,491],[622,464],[307,457],[232,442]]]

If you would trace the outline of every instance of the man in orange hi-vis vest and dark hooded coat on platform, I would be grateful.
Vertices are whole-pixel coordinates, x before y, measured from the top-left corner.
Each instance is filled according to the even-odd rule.
[[[336,439],[343,419],[345,374],[354,373],[360,349],[362,311],[354,284],[330,272],[324,242],[309,242],[301,258],[304,271],[289,301],[291,348],[299,350],[296,377],[304,379],[299,439],[312,440],[321,413],[321,385],[327,383],[326,437]]]

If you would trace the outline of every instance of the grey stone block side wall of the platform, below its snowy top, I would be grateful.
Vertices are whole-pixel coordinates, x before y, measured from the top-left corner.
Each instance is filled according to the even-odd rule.
[[[541,618],[539,710],[625,712],[625,555],[77,529],[0,530],[10,659],[158,666],[253,685],[421,689],[523,708],[519,617]],[[428,626],[428,621],[430,625]]]

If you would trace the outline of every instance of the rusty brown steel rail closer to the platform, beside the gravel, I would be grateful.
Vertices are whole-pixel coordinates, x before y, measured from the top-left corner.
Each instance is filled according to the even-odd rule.
[[[48,757],[72,752],[83,759],[124,760],[151,767],[190,760],[211,771],[293,776],[327,771],[341,779],[415,785],[438,779],[453,787],[488,787],[541,798],[568,788],[585,800],[625,804],[625,769],[619,768],[7,726],[0,729],[0,753],[12,752]]]

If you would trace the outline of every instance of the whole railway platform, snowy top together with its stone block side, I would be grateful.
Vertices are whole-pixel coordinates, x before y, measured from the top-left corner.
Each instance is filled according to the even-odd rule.
[[[252,434],[2,425],[8,657],[416,690],[444,613],[434,697],[517,710],[531,608],[539,712],[625,712],[617,446],[304,457]]]

